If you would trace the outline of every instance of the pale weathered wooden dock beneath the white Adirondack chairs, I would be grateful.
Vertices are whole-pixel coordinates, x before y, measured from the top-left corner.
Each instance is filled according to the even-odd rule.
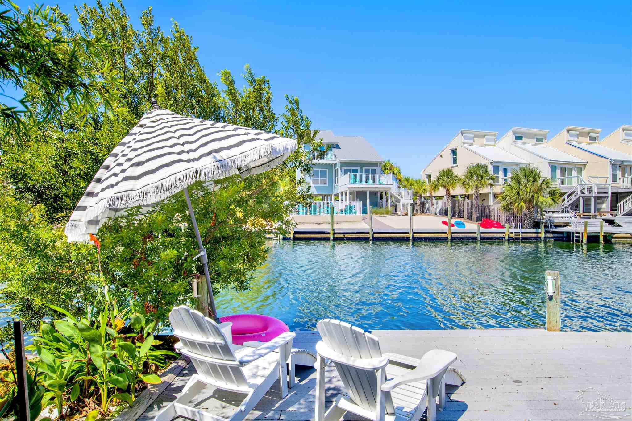
[[[544,329],[372,333],[380,339],[383,352],[420,358],[428,350],[439,348],[458,355],[454,367],[463,372],[466,382],[459,387],[447,386],[449,400],[445,410],[437,413],[437,420],[632,419],[632,333]],[[298,331],[293,346],[313,350],[319,339],[315,331]],[[176,397],[193,372],[188,365],[177,377],[165,376],[168,380],[161,386],[164,388],[157,389],[155,400],[147,401],[147,410],[140,417],[125,419],[152,420]],[[246,419],[313,420],[315,370],[303,367],[296,374],[297,384],[284,400],[277,382]],[[327,367],[326,381],[325,405],[329,406],[343,392],[333,365]],[[229,417],[241,399],[243,395],[215,393],[207,388],[194,402],[211,413]],[[623,404],[623,411],[599,410],[605,403]],[[586,412],[586,408],[593,410]]]

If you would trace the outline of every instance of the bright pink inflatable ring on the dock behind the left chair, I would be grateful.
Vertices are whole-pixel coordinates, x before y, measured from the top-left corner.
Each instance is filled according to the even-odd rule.
[[[220,317],[219,321],[232,322],[233,343],[243,345],[247,341],[269,342],[289,331],[288,325],[263,314],[233,314]]]

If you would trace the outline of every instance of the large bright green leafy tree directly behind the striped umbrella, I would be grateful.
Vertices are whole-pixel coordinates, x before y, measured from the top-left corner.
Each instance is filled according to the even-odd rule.
[[[270,81],[248,66],[245,88],[237,89],[226,70],[220,88],[207,78],[185,31],[174,23],[165,34],[154,25],[151,9],[142,13],[142,30],[131,27],[122,3],[104,7],[97,1],[76,11],[83,37],[118,48],[79,56],[82,68],[104,73],[103,85],[87,86],[94,90],[94,112],[67,107],[41,124],[22,119],[24,136],[8,133],[3,139],[0,283],[6,287],[0,301],[33,329],[40,319],[54,316],[44,304],[55,302],[81,314],[106,282],[135,311],[168,323],[169,308],[191,302],[191,277],[202,271],[200,262],[192,260],[197,246],[181,195],[157,204],[143,218],[131,210],[112,219],[99,230],[100,255],[92,245],[66,243],[63,235],[64,222],[96,170],[150,109],[150,98],[186,116],[294,137],[300,146],[317,149],[322,143],[298,98],[286,96],[285,112],[277,115]],[[101,86],[112,93],[115,115],[104,106]],[[24,88],[33,114],[46,116],[46,92],[36,83]],[[228,177],[210,190],[191,187],[214,290],[248,288],[252,271],[265,261],[265,234],[289,229],[289,210],[309,197],[305,179],[296,180],[296,170],[311,170],[303,148],[263,174]],[[99,257],[104,278],[95,276]]]

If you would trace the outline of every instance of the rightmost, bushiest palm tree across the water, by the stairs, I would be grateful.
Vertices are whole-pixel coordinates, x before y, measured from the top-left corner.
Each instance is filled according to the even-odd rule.
[[[526,212],[525,228],[533,228],[535,208],[551,208],[559,204],[562,191],[535,167],[520,167],[502,186],[501,208],[514,213]]]

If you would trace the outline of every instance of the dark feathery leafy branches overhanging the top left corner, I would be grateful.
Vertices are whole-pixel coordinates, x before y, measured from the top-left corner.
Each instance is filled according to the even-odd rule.
[[[5,129],[25,126],[21,118],[48,121],[71,110],[84,118],[100,106],[111,109],[119,88],[109,72],[109,63],[86,66],[87,57],[99,57],[112,45],[70,29],[68,15],[58,8],[35,6],[22,11],[9,0],[0,0],[0,81],[4,86],[25,91],[16,99],[23,109],[0,102],[0,121]],[[37,86],[41,98],[37,114],[30,107],[33,98],[27,85]],[[11,98],[11,97],[9,97]]]

